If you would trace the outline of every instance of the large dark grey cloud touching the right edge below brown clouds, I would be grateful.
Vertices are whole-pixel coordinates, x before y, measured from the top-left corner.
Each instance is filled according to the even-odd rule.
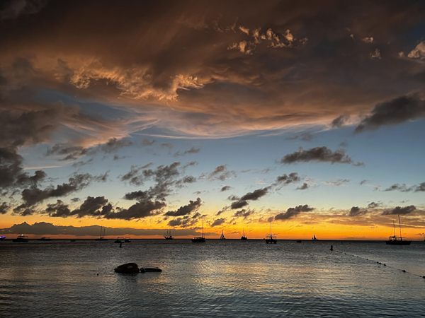
[[[384,125],[396,125],[425,117],[425,101],[419,96],[400,96],[376,105],[371,114],[361,120],[354,130],[360,133],[375,130]]]

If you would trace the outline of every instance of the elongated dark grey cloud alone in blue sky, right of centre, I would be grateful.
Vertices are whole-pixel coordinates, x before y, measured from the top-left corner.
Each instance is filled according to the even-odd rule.
[[[327,147],[316,147],[309,150],[304,150],[300,147],[299,151],[295,153],[288,153],[281,160],[280,163],[289,165],[291,163],[317,161],[322,163],[346,163],[352,165],[364,165],[363,163],[354,163],[353,160],[345,154],[344,149],[331,151]]]

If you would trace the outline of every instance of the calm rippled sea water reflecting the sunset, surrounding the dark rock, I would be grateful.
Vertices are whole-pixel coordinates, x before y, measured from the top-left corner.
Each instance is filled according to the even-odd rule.
[[[424,242],[3,241],[0,317],[424,317],[421,276]]]

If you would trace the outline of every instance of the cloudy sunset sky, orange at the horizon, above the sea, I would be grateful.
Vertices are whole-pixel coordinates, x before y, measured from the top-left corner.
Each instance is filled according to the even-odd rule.
[[[424,240],[424,1],[9,0],[0,38],[0,235]]]

